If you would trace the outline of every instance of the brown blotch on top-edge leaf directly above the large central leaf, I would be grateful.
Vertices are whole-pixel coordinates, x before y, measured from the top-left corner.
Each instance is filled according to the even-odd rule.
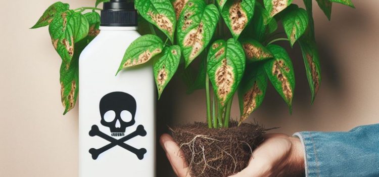
[[[229,20],[231,22],[230,26],[234,34],[241,34],[242,30],[248,23],[248,18],[246,13],[241,7],[240,1],[235,1],[229,9]]]

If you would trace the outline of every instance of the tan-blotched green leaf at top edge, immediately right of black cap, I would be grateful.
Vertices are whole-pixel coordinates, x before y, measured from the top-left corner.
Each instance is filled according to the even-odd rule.
[[[175,10],[169,0],[136,0],[135,8],[173,42],[176,28]]]

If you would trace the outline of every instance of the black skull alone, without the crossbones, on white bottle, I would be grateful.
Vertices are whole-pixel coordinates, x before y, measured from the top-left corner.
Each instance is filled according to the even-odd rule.
[[[124,92],[112,92],[100,100],[101,124],[109,127],[112,136],[124,136],[126,127],[135,123],[135,99]]]

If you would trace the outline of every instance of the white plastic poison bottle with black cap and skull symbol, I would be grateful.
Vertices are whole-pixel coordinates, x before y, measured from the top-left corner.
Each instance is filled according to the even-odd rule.
[[[104,4],[100,34],[79,59],[79,177],[155,176],[152,63],[115,76],[140,35],[134,4]]]

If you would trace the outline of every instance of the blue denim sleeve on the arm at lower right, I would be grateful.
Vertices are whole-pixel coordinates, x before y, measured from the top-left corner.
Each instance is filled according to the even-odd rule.
[[[294,136],[305,149],[307,177],[379,176],[379,124],[348,132],[302,131]]]

